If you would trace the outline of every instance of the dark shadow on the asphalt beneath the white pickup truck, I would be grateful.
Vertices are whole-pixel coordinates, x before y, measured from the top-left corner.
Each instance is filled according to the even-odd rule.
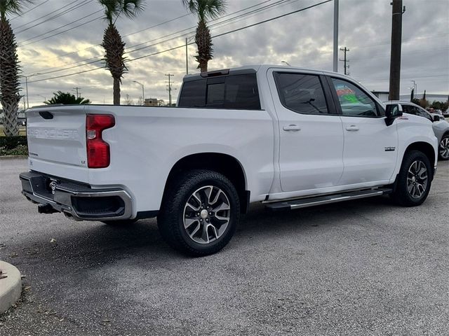
[[[269,240],[274,232],[277,237],[290,236],[292,232],[302,235],[316,227],[339,225],[345,218],[354,218],[361,214],[366,217],[375,216],[380,208],[387,207],[391,207],[391,204],[385,197],[278,212],[267,211],[262,204],[257,204],[250,208],[247,215],[241,216],[241,223],[231,241],[232,246],[225,251],[239,248],[241,244],[244,246],[248,237]],[[363,221],[363,218],[360,220]],[[53,243],[43,239],[22,241],[18,247],[23,253],[19,253],[21,258],[15,259],[15,264],[32,264],[46,260],[96,267],[122,258],[143,258],[145,262],[189,258],[174,251],[163,241],[155,218],[141,220],[128,227],[114,227],[98,222],[74,223],[65,218],[60,221],[67,221],[71,230],[61,232],[60,237]],[[67,225],[59,223],[60,221],[56,225]]]

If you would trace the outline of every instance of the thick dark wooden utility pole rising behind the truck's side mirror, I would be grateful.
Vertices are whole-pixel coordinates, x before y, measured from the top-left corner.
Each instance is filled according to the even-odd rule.
[[[391,18],[391,57],[390,57],[390,87],[389,100],[398,100],[401,88],[401,44],[402,44],[402,15],[406,7],[402,7],[402,0],[392,0]]]

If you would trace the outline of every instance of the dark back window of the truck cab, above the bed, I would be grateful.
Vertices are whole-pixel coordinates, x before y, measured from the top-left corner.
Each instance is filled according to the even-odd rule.
[[[180,107],[260,110],[255,73],[190,80],[182,85]]]

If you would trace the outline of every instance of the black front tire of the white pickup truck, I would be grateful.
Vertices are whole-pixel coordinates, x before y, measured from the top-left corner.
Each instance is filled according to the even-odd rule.
[[[413,166],[415,165],[415,162],[422,162],[422,165],[424,165],[427,170],[427,183],[425,183],[425,186],[422,179],[418,179],[416,177],[417,175],[415,176],[409,172],[410,170],[413,172],[413,167],[417,167]],[[427,195],[429,195],[431,174],[433,174],[432,167],[429,158],[427,158],[424,153],[420,151],[406,152],[402,160],[401,170],[397,177],[396,189],[394,190],[394,193],[391,194],[391,198],[396,204],[399,204],[402,207],[416,207],[421,205],[426,200]],[[410,176],[415,176],[415,179],[410,179]],[[413,186],[413,183],[415,183],[415,186]],[[416,183],[417,185],[422,186],[422,188],[418,188],[419,186],[417,187]],[[411,186],[412,191],[409,190],[409,186]],[[416,195],[413,195],[414,193],[416,193]],[[417,195],[417,193],[421,193],[421,195]]]

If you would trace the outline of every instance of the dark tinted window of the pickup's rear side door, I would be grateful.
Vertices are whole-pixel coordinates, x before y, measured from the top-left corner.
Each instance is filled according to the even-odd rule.
[[[287,109],[304,114],[327,114],[328,106],[318,76],[275,73],[279,99]]]

